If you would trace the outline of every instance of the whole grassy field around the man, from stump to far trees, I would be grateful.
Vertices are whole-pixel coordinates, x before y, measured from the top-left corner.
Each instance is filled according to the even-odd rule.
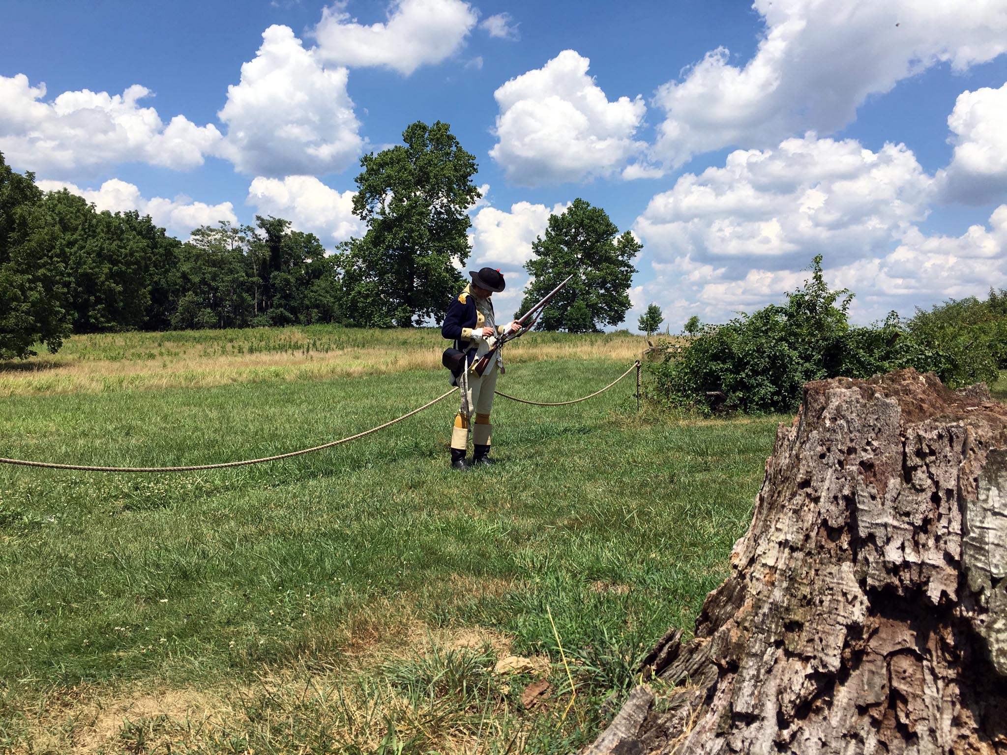
[[[130,358],[106,358],[101,339],[89,351],[75,338],[76,352],[38,357],[37,370],[6,364],[0,456],[254,458],[351,435],[448,388],[436,359],[417,367],[415,351],[443,347],[430,331],[409,343],[350,331],[353,358],[367,364],[374,349],[378,373],[340,372],[335,353],[326,369],[300,374],[303,359],[237,366],[247,348],[236,343],[275,333],[234,335],[201,366],[186,355],[186,374],[201,375],[189,387],[173,378],[180,355],[155,353],[180,353],[174,334],[156,347],[140,345],[150,334],[104,337],[124,353],[136,339],[132,361],[147,368],[133,370],[146,375],[134,388],[106,380]],[[208,352],[215,336],[175,337]],[[550,337],[539,337],[525,338],[500,390],[584,396],[642,345],[571,337],[552,341],[551,359]],[[637,415],[634,390],[630,375],[567,407],[497,397],[498,463],[465,474],[447,468],[454,396],[365,439],[252,467],[0,465],[0,752],[582,745],[610,719],[649,644],[672,625],[690,628],[726,576],[776,423],[788,419]],[[512,655],[531,665],[494,672]],[[523,701],[537,681],[550,687]]]

